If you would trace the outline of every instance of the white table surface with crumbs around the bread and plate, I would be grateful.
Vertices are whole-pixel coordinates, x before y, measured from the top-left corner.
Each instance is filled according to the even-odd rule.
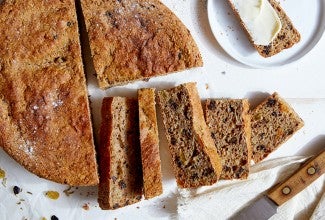
[[[294,0],[286,0],[294,1]],[[104,96],[135,96],[143,87],[165,89],[185,82],[197,82],[202,99],[229,97],[248,98],[256,105],[268,94],[278,92],[305,121],[305,126],[289,141],[272,153],[268,159],[292,155],[312,155],[325,147],[325,37],[317,46],[297,62],[274,69],[252,69],[227,55],[217,43],[209,26],[206,0],[163,0],[188,27],[203,56],[204,66],[168,76],[157,77],[149,82],[136,82],[106,91],[97,88],[92,68],[87,65],[88,88],[92,100],[95,133],[100,124],[100,106]],[[294,21],[293,21],[294,22]],[[302,36],[303,37],[303,36]],[[208,88],[207,88],[208,87]],[[0,220],[2,219],[149,219],[172,218],[176,214],[177,191],[171,172],[163,128],[159,117],[160,153],[163,172],[163,195],[149,201],[141,201],[114,211],[102,211],[97,204],[97,188],[78,188],[67,197],[67,186],[56,184],[27,172],[0,150],[0,167],[7,173],[6,187],[0,180]],[[12,193],[14,185],[23,192]],[[56,201],[44,196],[47,190],[57,190]],[[32,192],[30,195],[27,191]],[[24,199],[20,205],[17,202]],[[89,210],[82,206],[89,205]]]

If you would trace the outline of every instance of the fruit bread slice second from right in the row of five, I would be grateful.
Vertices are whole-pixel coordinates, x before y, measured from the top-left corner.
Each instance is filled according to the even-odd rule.
[[[252,154],[247,99],[208,99],[205,118],[222,160],[221,179],[246,179]]]

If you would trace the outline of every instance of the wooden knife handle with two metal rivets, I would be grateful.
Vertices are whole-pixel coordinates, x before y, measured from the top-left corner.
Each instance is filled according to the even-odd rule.
[[[325,150],[304,163],[298,171],[284,182],[272,187],[267,195],[280,206],[309,186],[324,172]]]

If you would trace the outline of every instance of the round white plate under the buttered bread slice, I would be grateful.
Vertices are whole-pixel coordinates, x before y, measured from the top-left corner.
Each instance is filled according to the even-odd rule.
[[[318,43],[325,29],[325,1],[280,1],[301,41],[270,58],[260,56],[249,43],[226,0],[208,0],[208,18],[212,32],[221,47],[234,59],[255,68],[272,68],[297,61]]]

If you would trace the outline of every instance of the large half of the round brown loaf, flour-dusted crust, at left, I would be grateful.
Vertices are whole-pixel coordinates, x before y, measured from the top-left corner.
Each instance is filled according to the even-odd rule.
[[[98,184],[73,0],[0,4],[0,146],[40,177]]]

